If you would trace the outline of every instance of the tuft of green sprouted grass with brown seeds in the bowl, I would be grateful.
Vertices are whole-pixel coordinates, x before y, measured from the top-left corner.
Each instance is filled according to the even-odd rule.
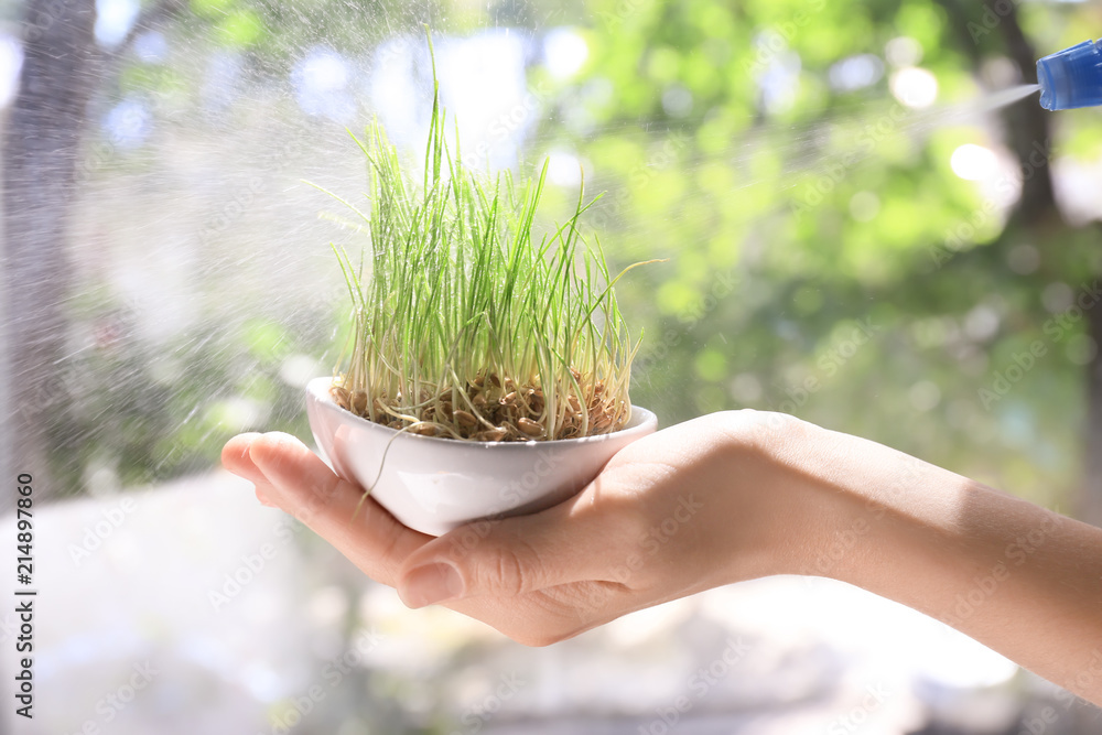
[[[430,40],[431,50],[431,40]],[[424,436],[508,442],[603,434],[630,419],[633,343],[594,236],[574,214],[537,235],[548,175],[517,185],[465,169],[433,105],[421,181],[406,175],[376,120],[365,140],[369,207],[364,262],[334,247],[354,310],[350,355],[333,399],[376,423]],[[334,195],[335,196],[335,195]],[[651,261],[648,261],[651,262]],[[366,273],[365,273],[366,271]],[[344,368],[343,371],[341,368]]]

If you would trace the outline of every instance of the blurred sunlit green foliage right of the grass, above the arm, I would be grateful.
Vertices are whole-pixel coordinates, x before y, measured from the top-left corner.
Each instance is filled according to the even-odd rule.
[[[590,8],[583,77],[559,86],[544,136],[613,191],[596,212],[613,252],[670,259],[620,289],[647,332],[636,402],[666,422],[785,410],[1068,508],[1096,346],[1085,320],[1046,335],[1068,304],[1042,296],[1078,294],[1102,250],[1093,226],[1007,227],[992,194],[950,169],[961,144],[1003,147],[994,115],[953,117],[1020,78],[1000,33],[969,47],[960,18],[917,1]],[[963,12],[984,28],[984,7]],[[1023,14],[1038,56],[1102,26],[1096,7]],[[920,58],[885,58],[900,36]],[[883,76],[832,87],[832,67],[860,54],[882,60]],[[795,68],[790,98],[770,109],[760,80],[782,64]],[[946,110],[893,98],[892,75],[910,64],[934,74]],[[1007,65],[1008,79],[985,78]],[[671,91],[691,107],[663,105]],[[1057,167],[1096,161],[1100,122],[1096,110],[1054,120]],[[709,301],[732,272],[732,294]],[[850,355],[865,320],[875,331]],[[1037,339],[1045,356],[985,406],[981,391],[1015,377]]]

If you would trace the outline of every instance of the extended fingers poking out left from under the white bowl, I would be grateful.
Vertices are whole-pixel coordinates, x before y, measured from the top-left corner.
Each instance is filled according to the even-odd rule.
[[[257,482],[274,505],[326,539],[365,573],[395,585],[413,551],[432,537],[395,520],[363,490],[337,477],[317,455],[290,434],[245,434],[226,444],[223,462]]]

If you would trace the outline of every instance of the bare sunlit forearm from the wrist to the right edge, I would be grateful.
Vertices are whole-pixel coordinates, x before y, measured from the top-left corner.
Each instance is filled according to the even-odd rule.
[[[941,619],[1102,704],[1102,529],[803,424],[781,461],[833,498],[808,574]]]

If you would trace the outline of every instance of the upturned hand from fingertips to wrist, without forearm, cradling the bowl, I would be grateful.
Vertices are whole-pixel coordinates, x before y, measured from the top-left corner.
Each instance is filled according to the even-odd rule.
[[[412,531],[288,434],[242,434],[223,462],[407,605],[442,603],[547,645],[661,602],[796,572],[822,506],[765,448],[812,430],[780,414],[695,419],[630,444],[539,514]],[[767,440],[768,437],[768,440]],[[802,497],[799,497],[802,496]],[[358,507],[358,510],[357,510]]]

